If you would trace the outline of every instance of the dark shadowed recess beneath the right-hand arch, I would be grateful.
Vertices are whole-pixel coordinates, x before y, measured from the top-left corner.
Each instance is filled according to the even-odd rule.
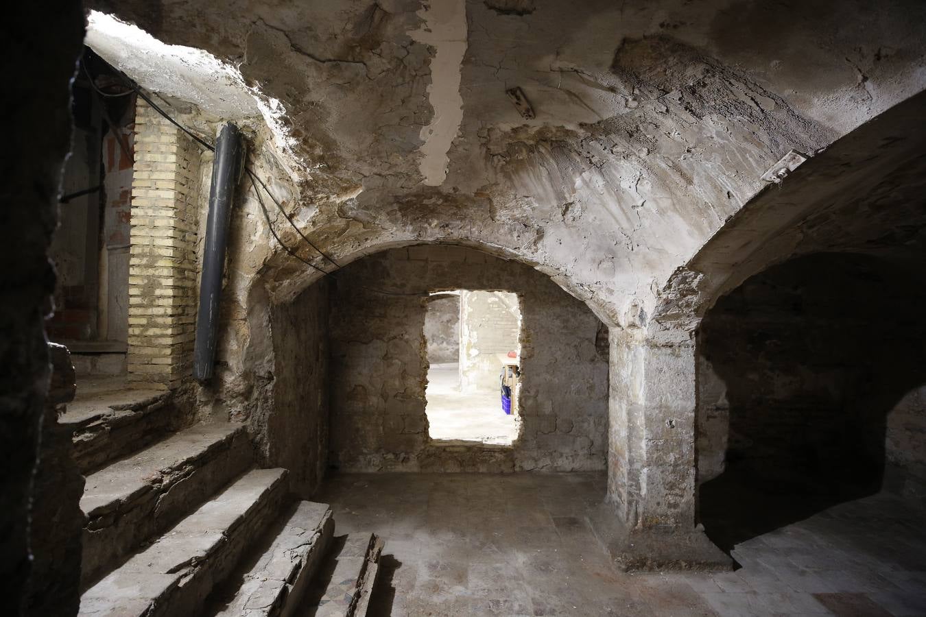
[[[921,491],[922,290],[916,268],[810,253],[746,279],[707,312],[699,518],[722,548],[884,487]]]

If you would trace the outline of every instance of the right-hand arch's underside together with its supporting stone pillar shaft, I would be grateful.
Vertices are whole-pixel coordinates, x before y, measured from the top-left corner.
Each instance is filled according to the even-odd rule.
[[[920,93],[811,157],[760,191],[679,267],[658,290],[652,315],[644,302],[631,305],[611,337],[608,452],[608,499],[628,533],[687,533],[705,561],[717,561],[695,530],[701,319],[725,292],[795,255],[843,251],[904,260],[921,251],[926,143],[909,127],[924,111]],[[644,559],[643,546],[671,561],[659,540],[636,542],[624,559]]]

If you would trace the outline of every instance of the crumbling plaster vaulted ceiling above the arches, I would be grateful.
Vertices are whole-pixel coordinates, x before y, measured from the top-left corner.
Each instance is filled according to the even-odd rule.
[[[473,0],[463,118],[433,188],[419,174],[434,49],[415,40],[428,17],[418,2],[93,4],[234,62],[281,102],[307,171],[287,207],[335,258],[484,241],[560,277],[611,325],[634,300],[651,313],[654,287],[782,154],[812,153],[924,83],[913,2],[511,11]],[[507,100],[514,85],[535,118]],[[276,262],[274,295],[311,282]]]

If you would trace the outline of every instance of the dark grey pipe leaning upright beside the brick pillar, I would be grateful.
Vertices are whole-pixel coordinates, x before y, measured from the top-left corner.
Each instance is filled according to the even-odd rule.
[[[199,310],[196,315],[194,376],[210,379],[219,337],[219,305],[225,250],[232,222],[234,190],[244,171],[244,139],[232,123],[219,132],[216,158],[212,162],[212,186],[209,188],[209,215],[206,219],[206,245],[203,251],[203,274],[199,283]]]

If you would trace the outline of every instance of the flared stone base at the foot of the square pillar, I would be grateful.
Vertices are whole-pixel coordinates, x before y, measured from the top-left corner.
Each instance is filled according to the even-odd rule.
[[[733,569],[732,558],[707,538],[701,525],[629,530],[608,504],[598,506],[589,518],[598,540],[623,572]]]

